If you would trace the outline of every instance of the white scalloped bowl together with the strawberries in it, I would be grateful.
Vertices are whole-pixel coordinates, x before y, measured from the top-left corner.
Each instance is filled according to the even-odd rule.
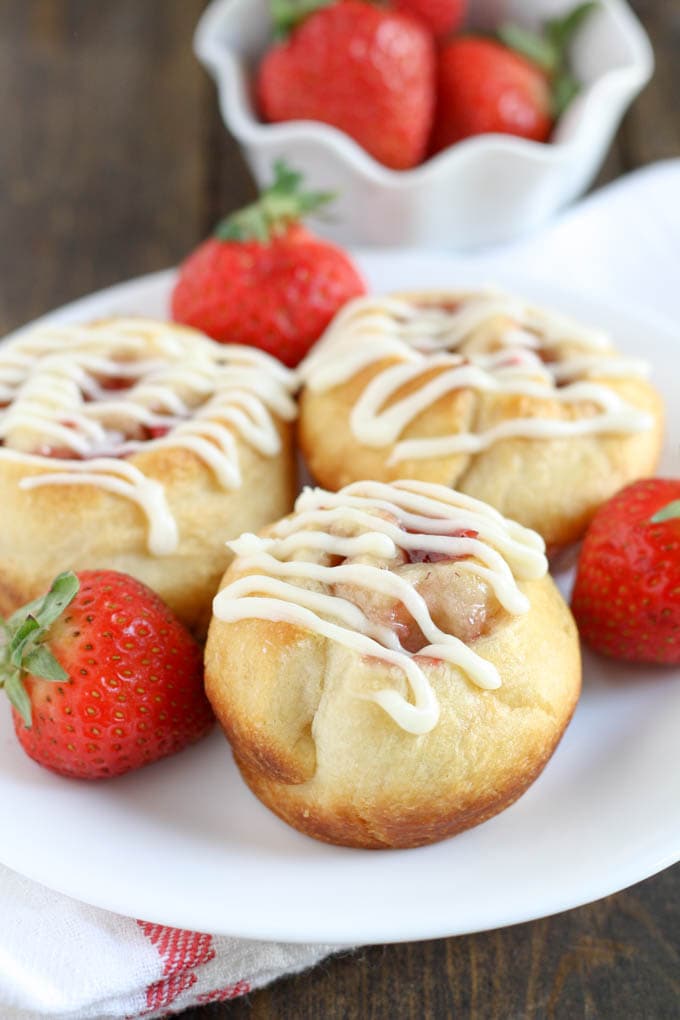
[[[651,75],[624,0],[213,0],[196,52],[262,184],[338,196],[326,237],[472,249],[580,195]]]

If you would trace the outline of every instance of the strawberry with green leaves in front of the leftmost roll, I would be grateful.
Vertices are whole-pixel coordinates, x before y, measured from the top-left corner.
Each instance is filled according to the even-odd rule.
[[[145,584],[60,574],[2,624],[0,685],[21,747],[61,775],[104,779],[210,729],[200,646]]]

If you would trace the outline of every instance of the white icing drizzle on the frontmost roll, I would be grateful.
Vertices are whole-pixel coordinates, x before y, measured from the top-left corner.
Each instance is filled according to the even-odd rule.
[[[457,571],[483,578],[511,614],[529,610],[518,580],[547,570],[543,541],[534,531],[485,503],[419,481],[360,481],[338,493],[308,489],[296,513],[267,538],[244,534],[227,545],[242,576],[215,597],[215,617],[291,623],[397,667],[412,701],[396,690],[363,697],[410,733],[428,732],[439,714],[423,659],[449,662],[488,690],[500,686],[501,677],[490,662],[436,626],[425,599],[389,569],[390,560],[400,550],[455,560]],[[407,651],[398,629],[367,615],[352,592],[401,603],[427,644],[417,654]]]

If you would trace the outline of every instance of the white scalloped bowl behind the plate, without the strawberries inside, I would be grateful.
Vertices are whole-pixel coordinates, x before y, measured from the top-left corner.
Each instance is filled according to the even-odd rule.
[[[575,0],[472,0],[475,27],[535,26]],[[527,8],[530,6],[530,15]],[[310,186],[337,193],[332,219],[314,228],[342,244],[470,249],[534,230],[588,187],[626,108],[651,76],[649,41],[624,0],[599,0],[573,47],[582,91],[547,144],[481,135],[412,170],[376,162],[335,128],[258,119],[251,81],[271,40],[268,0],[213,0],[195,36],[229,131],[260,184],[285,158]]]

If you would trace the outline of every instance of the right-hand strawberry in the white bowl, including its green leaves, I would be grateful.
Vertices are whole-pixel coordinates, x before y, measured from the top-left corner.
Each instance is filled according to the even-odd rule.
[[[578,92],[569,49],[594,7],[579,4],[540,33],[511,23],[499,30],[500,42],[463,36],[442,46],[431,151],[488,132],[546,142]]]

